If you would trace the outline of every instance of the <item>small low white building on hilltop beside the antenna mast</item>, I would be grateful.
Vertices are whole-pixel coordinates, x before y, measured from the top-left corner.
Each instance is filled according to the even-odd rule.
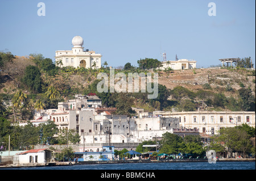
[[[180,59],[177,61],[163,61],[162,67],[159,69],[168,69],[171,68],[172,70],[183,70],[183,69],[196,69],[196,61],[195,60],[188,60],[188,59]]]

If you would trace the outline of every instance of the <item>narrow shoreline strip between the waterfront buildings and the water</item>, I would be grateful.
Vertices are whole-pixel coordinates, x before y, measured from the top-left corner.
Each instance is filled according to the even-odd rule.
[[[130,160],[114,160],[114,161],[82,161],[82,162],[50,162],[50,163],[21,163],[9,164],[0,166],[0,169],[5,168],[20,168],[20,167],[43,167],[43,166],[73,166],[73,165],[95,165],[95,164],[118,164],[118,163],[166,163],[166,162],[208,162],[207,158],[191,158],[191,159],[130,159]],[[255,158],[217,158],[216,162],[255,162]]]

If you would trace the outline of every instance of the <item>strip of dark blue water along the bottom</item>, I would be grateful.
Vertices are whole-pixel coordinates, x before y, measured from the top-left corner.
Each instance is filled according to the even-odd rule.
[[[255,162],[165,162],[117,163],[52,167],[22,167],[9,170],[255,170]]]

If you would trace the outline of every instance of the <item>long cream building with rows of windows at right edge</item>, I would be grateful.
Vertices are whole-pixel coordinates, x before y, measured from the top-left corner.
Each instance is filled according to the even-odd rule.
[[[248,124],[255,128],[253,111],[193,111],[193,112],[154,112],[155,115],[176,117],[180,128],[197,128],[200,133],[218,134],[221,128]]]

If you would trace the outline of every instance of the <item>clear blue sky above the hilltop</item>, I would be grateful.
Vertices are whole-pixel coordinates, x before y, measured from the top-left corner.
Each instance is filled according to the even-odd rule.
[[[38,16],[39,2],[46,16]],[[216,4],[209,16],[208,3]],[[220,58],[252,57],[255,65],[255,1],[0,1],[0,50],[18,56],[71,50],[72,38],[102,54],[102,64],[137,65],[140,58],[194,59],[197,66]],[[255,67],[255,66],[254,66]]]

